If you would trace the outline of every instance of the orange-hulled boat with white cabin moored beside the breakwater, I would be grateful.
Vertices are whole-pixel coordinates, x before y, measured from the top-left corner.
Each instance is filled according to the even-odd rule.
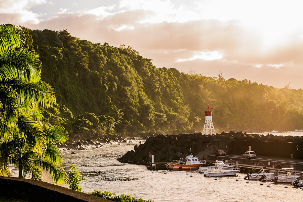
[[[171,163],[166,164],[168,170],[197,170],[200,166],[205,165],[205,160],[199,160],[198,157],[194,157],[191,153],[185,157],[186,161],[174,160]]]

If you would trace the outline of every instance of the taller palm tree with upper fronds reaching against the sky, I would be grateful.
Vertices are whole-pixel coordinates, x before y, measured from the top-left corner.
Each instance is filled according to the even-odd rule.
[[[42,128],[21,107],[47,108],[55,104],[52,87],[41,78],[41,61],[21,47],[23,32],[13,25],[0,25],[0,141],[11,141],[13,131],[23,131],[23,140],[38,154],[46,149]],[[21,112],[21,113],[20,113]]]

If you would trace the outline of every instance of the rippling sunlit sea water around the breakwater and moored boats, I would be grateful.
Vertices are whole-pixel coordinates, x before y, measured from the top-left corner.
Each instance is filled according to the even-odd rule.
[[[267,132],[260,134],[267,134]],[[275,135],[303,136],[302,131],[273,133]],[[259,181],[238,177],[204,177],[196,171],[155,171],[145,166],[123,164],[116,159],[134,148],[138,142],[87,147],[84,151],[64,151],[62,164],[69,172],[69,166],[75,164],[86,180],[80,186],[85,193],[94,189],[111,191],[117,195],[131,194],[134,198],[152,201],[303,201],[303,190],[287,184],[260,184]],[[192,174],[192,177],[190,177]],[[236,181],[238,179],[238,181]],[[270,187],[267,187],[267,185]],[[288,186],[288,188],[285,188]]]

